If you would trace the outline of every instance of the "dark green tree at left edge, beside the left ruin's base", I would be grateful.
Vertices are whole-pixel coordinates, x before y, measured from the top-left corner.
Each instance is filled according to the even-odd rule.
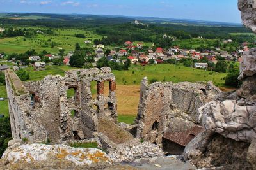
[[[9,117],[0,118],[0,157],[8,147],[8,141],[12,140],[12,132]]]

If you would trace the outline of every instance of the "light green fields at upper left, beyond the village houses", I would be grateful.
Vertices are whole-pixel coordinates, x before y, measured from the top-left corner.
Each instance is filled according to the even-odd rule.
[[[19,27],[17,27],[19,29]],[[45,27],[27,27],[27,29],[44,30]],[[60,48],[66,50],[66,52],[72,51],[75,48],[76,43],[79,43],[81,47],[92,46],[84,44],[84,41],[91,39],[101,39],[102,36],[93,34],[92,31],[79,30],[79,29],[53,29],[56,35],[36,34],[35,38],[24,38],[19,36],[15,38],[0,39],[0,52],[10,53],[24,53],[27,50],[35,49],[36,52],[46,50],[57,54]],[[77,38],[75,34],[84,34],[86,38]],[[49,41],[51,40],[51,41]],[[51,48],[51,42],[54,42],[54,48]]]

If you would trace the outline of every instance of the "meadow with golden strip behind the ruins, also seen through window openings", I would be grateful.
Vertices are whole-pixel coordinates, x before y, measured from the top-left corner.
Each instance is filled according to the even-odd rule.
[[[76,69],[69,66],[47,66],[45,71],[33,71],[33,67],[26,68],[29,72],[29,80],[42,80],[45,76],[59,74],[64,76],[65,71]],[[182,64],[156,64],[149,66],[131,65],[128,71],[113,71],[116,77],[116,97],[118,101],[118,120],[120,122],[132,123],[136,117],[138,110],[138,101],[140,97],[140,82],[143,77],[147,76],[148,80],[153,78],[157,81],[172,81],[178,83],[181,81],[213,81],[218,87],[224,86],[224,78],[227,73],[215,73],[202,69],[194,69],[184,67]],[[92,94],[96,94],[96,85],[92,83]],[[106,88],[107,85],[106,85]],[[106,92],[108,93],[108,92]],[[74,96],[72,91],[68,92],[68,96]],[[4,86],[0,86],[0,97],[6,97]],[[8,115],[7,101],[0,101],[0,114]]]

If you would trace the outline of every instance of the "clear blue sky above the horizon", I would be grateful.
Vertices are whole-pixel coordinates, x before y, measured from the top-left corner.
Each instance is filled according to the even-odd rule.
[[[0,0],[0,12],[125,15],[241,23],[237,0]]]

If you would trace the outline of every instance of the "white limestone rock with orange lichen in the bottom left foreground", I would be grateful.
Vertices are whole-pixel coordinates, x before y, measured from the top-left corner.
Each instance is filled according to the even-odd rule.
[[[6,150],[3,159],[8,160],[9,164],[16,162],[44,162],[60,160],[61,162],[71,162],[76,166],[97,167],[110,166],[112,160],[96,148],[72,148],[67,145],[44,145],[31,144],[21,145],[13,150]],[[50,161],[50,162],[51,162]]]

